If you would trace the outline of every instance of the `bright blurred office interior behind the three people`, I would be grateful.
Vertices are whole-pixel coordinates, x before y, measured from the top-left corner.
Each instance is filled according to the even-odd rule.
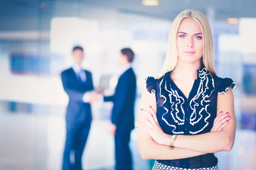
[[[59,170],[68,101],[60,72],[72,65],[73,45],[85,50],[83,68],[94,86],[113,93],[121,48],[136,53],[136,116],[146,76],[157,76],[167,50],[169,28],[180,11],[192,8],[209,19],[215,68],[237,88],[236,141],[216,153],[220,170],[256,170],[256,1],[255,0],[0,0],[0,170]],[[108,81],[108,77],[111,77]],[[106,83],[107,82],[107,83]],[[93,104],[93,123],[84,151],[85,170],[113,170],[110,103]],[[142,160],[136,130],[134,170]]]

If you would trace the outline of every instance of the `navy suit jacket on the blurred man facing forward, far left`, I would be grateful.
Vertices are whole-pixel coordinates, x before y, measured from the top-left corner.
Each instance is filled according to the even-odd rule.
[[[84,72],[86,81],[82,83],[77,78],[73,68],[61,72],[64,91],[69,96],[66,113],[67,125],[72,125],[75,122],[90,123],[92,121],[90,104],[84,103],[82,98],[84,93],[93,90],[93,80],[89,71],[84,70]]]

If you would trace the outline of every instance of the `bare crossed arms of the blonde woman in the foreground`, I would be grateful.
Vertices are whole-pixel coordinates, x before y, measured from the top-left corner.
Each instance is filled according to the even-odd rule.
[[[158,125],[155,114],[157,110],[155,95],[148,93],[146,90],[143,91],[141,108],[143,110],[140,111],[140,121],[138,122],[138,145],[143,159],[183,159],[206,153],[229,151],[233,147],[236,118],[231,89],[227,90],[227,94],[218,94],[217,114],[223,111],[221,117],[224,120],[224,128],[194,136],[178,135],[174,150],[168,149],[171,136],[163,133]],[[225,114],[227,112],[229,114]],[[230,118],[227,115],[230,115]],[[220,117],[220,115],[217,115],[217,117]],[[228,119],[229,121],[226,122]],[[150,122],[153,123],[149,124]]]

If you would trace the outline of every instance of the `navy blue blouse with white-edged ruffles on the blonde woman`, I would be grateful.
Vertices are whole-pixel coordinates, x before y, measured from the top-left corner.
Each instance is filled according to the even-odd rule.
[[[218,94],[236,88],[230,78],[220,78],[203,66],[197,73],[189,98],[171,79],[171,71],[160,79],[146,78],[146,88],[155,93],[157,119],[163,131],[169,135],[198,135],[210,132],[217,112]],[[162,164],[181,168],[212,167],[218,163],[213,153],[186,159],[157,160]]]

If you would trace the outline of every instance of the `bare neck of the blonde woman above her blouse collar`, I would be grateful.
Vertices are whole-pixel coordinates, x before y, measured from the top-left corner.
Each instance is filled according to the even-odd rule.
[[[172,79],[197,79],[197,70],[201,68],[201,62],[188,63],[177,62],[175,69],[172,71]]]

